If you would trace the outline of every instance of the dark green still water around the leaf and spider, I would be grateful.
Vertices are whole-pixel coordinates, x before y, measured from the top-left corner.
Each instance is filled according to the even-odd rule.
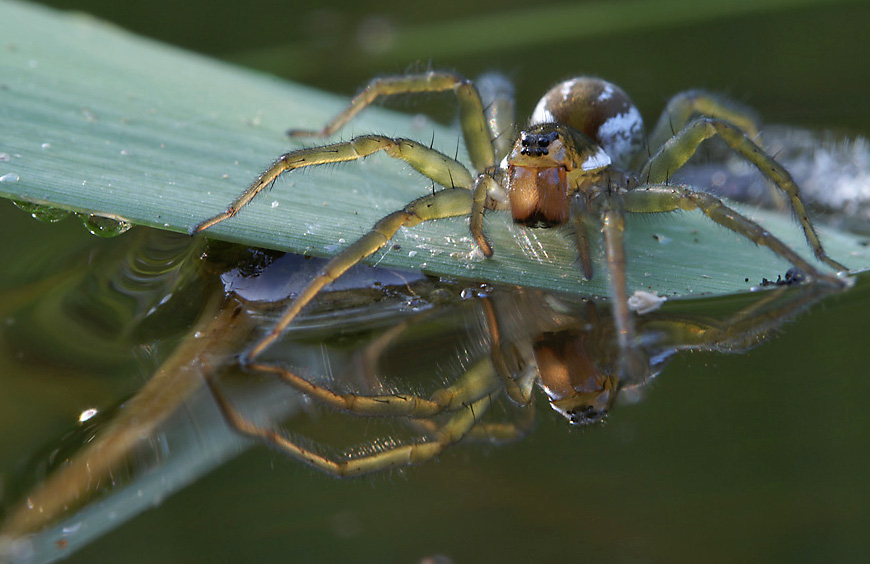
[[[80,6],[100,13],[96,6]],[[669,94],[703,86],[751,103],[773,122],[853,135],[870,131],[870,76],[860,72],[857,56],[870,47],[863,30],[870,13],[861,3],[816,3],[690,22],[674,15],[674,24],[640,22],[555,40],[528,5],[478,4],[476,14],[467,14],[440,3],[414,16],[398,8],[370,14],[362,6],[300,14],[278,5],[212,6],[197,9],[188,3],[182,10],[128,2],[122,12],[104,13],[143,33],[230,59],[257,59],[264,67],[275,64],[276,71],[293,65],[267,56],[268,48],[305,49],[315,63],[285,74],[332,91],[350,93],[372,74],[417,63],[469,75],[495,68],[515,80],[522,113],[551,83],[585,72],[623,86],[648,121]],[[167,10],[182,11],[167,23]],[[516,10],[528,10],[534,40],[517,37],[516,47],[493,40],[498,46],[486,48],[488,38],[502,36],[495,23],[483,24]],[[376,40],[383,37],[379,29],[398,33],[472,17],[482,24],[479,37],[464,38],[470,55],[453,54],[433,42],[431,60],[403,60],[388,42],[384,47]],[[416,109],[410,101],[399,106]],[[88,436],[87,429],[69,435],[79,428],[83,410],[96,406],[108,412],[100,417],[110,418],[112,408],[143,387],[203,307],[206,289],[196,294],[189,290],[195,284],[167,281],[167,287],[188,290],[170,300],[172,314],[162,317],[146,315],[154,296],[107,305],[91,328],[109,327],[111,334],[94,335],[82,329],[88,326],[81,313],[87,303],[76,307],[52,296],[67,296],[64,284],[99,284],[100,276],[89,268],[118,264],[111,261],[111,246],[124,256],[134,233],[96,240],[78,225],[39,224],[8,204],[0,213],[4,250],[15,265],[2,282],[7,328],[0,359],[0,464],[8,510],[51,464],[46,461],[63,460],[70,444]],[[160,245],[172,255],[172,243]],[[177,257],[192,252],[178,250],[182,247]],[[128,280],[131,288],[135,282]],[[22,304],[28,305],[22,309]],[[719,300],[685,307],[713,315],[743,305]],[[137,319],[150,321],[135,330],[120,322],[107,325],[112,314],[106,311],[118,320],[140,312]],[[865,479],[870,415],[864,401],[870,392],[864,377],[870,368],[864,354],[868,311],[870,286],[864,277],[850,292],[814,305],[747,354],[676,355],[646,387],[642,401],[617,404],[604,425],[569,429],[539,397],[536,425],[521,441],[458,446],[437,461],[374,477],[335,480],[260,446],[233,458],[240,449],[235,440],[220,454],[209,448],[226,447],[201,448],[194,452],[231,459],[215,463],[217,469],[72,559],[864,560],[870,552],[865,539],[870,525]],[[69,323],[59,322],[58,315],[69,316]],[[17,325],[10,329],[12,322]],[[149,323],[165,332],[158,338]],[[421,339],[429,339],[429,351],[451,353],[440,367],[450,373],[467,353],[457,341],[474,335],[468,329],[446,343],[430,335]],[[125,345],[133,342],[139,344]],[[472,340],[465,342],[473,349]],[[340,349],[340,343],[333,348]],[[316,341],[309,349],[304,354],[321,366]],[[403,363],[397,365],[401,372]],[[228,385],[236,383],[230,378]],[[281,393],[274,392],[275,397]],[[189,431],[193,439],[156,440],[140,467],[171,459],[185,440],[205,441],[203,428],[222,425],[214,413],[212,419],[197,415],[196,401],[185,408],[193,414],[192,423],[184,420],[194,429]],[[326,424],[333,416],[315,409],[291,418],[292,432],[338,446],[352,443],[347,427]],[[350,422],[355,432],[368,435],[379,431],[378,425],[371,419]],[[387,424],[386,432],[393,431]],[[220,442],[205,442],[212,440]],[[125,479],[118,476],[119,482]],[[111,512],[107,515],[111,518]]]

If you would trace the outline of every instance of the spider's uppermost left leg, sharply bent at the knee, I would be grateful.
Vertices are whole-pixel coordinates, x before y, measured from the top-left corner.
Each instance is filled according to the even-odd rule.
[[[294,137],[326,137],[341,129],[363,108],[381,96],[393,94],[417,94],[422,92],[444,92],[452,90],[459,100],[459,115],[462,135],[468,155],[476,170],[484,170],[495,164],[487,118],[483,102],[474,84],[465,77],[451,72],[427,72],[406,76],[375,78],[351,100],[350,105],[335,116],[319,131],[291,129],[287,133]]]

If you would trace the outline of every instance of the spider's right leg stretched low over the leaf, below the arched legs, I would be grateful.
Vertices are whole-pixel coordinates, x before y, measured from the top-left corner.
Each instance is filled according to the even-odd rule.
[[[819,272],[766,229],[740,215],[737,211],[726,206],[722,200],[706,192],[695,192],[687,187],[644,186],[624,193],[622,199],[625,210],[635,213],[698,209],[719,225],[727,227],[758,245],[769,248],[808,276],[826,281],[836,287],[843,284],[839,279]]]

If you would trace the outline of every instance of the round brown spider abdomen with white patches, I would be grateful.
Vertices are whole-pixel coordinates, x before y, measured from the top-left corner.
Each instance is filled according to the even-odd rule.
[[[587,135],[625,168],[643,145],[643,119],[620,87],[583,76],[560,82],[538,102],[531,124],[562,123]]]

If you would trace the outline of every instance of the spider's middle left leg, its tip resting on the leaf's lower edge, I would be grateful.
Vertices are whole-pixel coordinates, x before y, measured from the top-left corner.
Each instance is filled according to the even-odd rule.
[[[361,135],[350,141],[291,151],[278,157],[266,172],[260,175],[241,196],[231,203],[226,211],[196,224],[190,234],[195,235],[236,215],[248,205],[263,188],[269,186],[281,174],[306,166],[340,163],[365,158],[378,151],[400,159],[447,188],[471,188],[471,174],[460,162],[420,145],[410,139],[392,139],[383,135]]]

